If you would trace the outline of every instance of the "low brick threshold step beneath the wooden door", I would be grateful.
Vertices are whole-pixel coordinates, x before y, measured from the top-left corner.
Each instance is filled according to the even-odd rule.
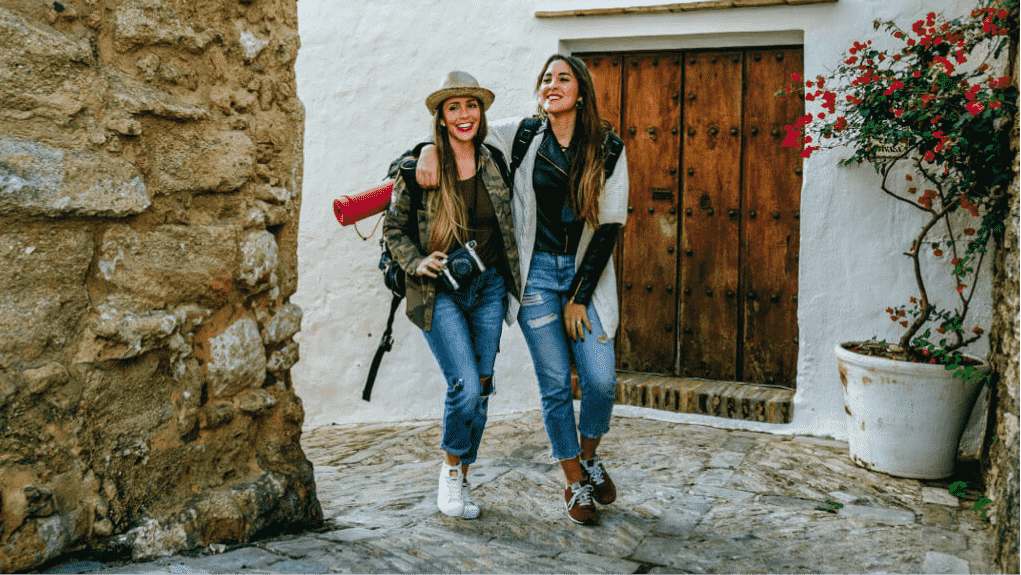
[[[572,369],[575,399],[581,399],[578,375]],[[764,423],[790,423],[794,390],[784,387],[714,381],[659,374],[617,372],[619,405],[652,408]]]

